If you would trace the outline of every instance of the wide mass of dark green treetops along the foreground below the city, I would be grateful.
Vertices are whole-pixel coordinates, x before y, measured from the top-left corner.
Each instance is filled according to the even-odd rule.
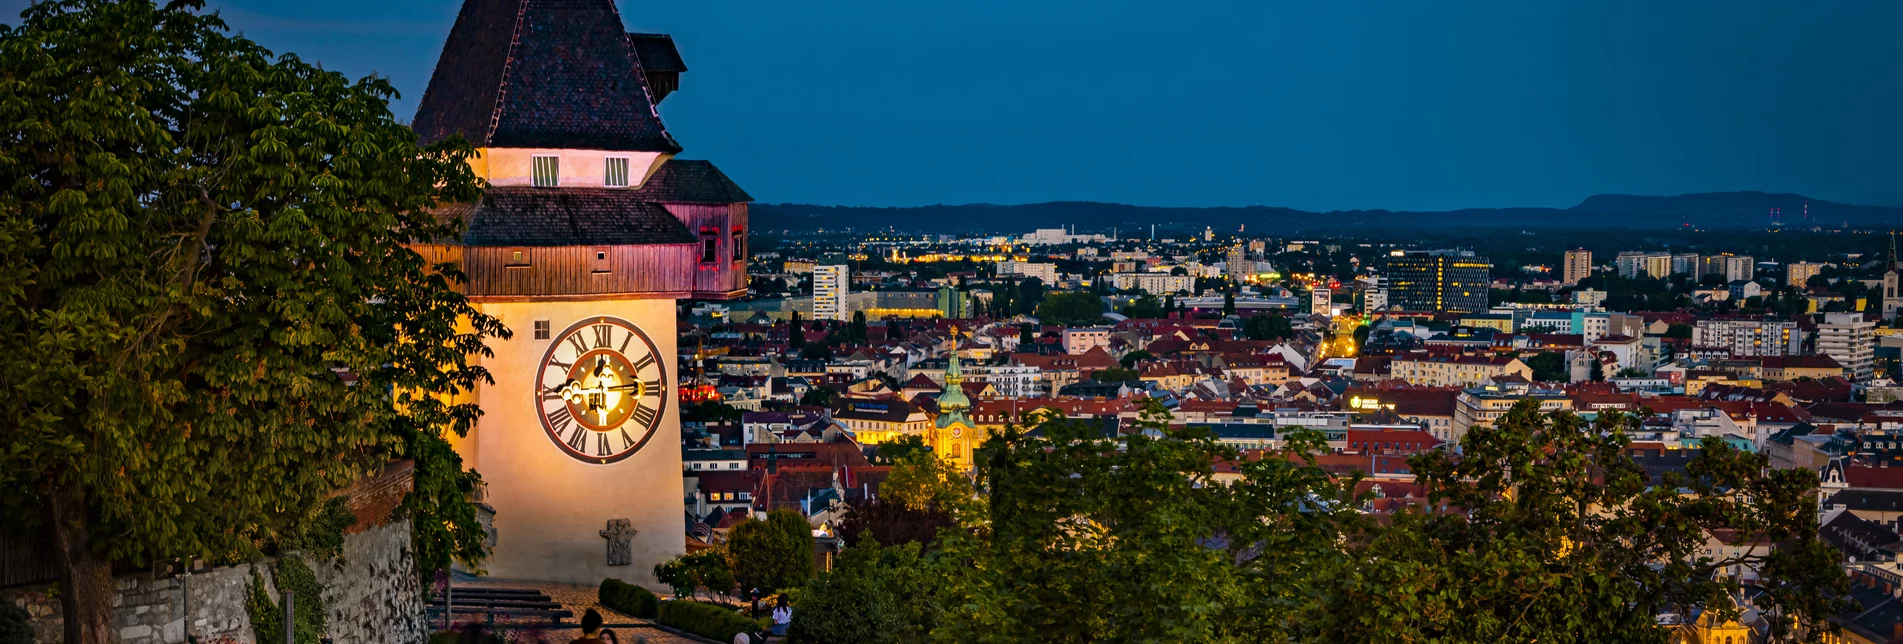
[[[1736,612],[1734,581],[1717,575],[1728,566],[1762,572],[1766,614],[1825,625],[1842,608],[1814,474],[1707,440],[1690,476],[1652,486],[1625,455],[1633,423],[1602,413],[1585,427],[1520,404],[1469,433],[1458,459],[1410,459],[1429,501],[1382,522],[1359,513],[1355,478],[1309,461],[1324,450],[1315,433],[1290,434],[1286,457],[1246,461],[1170,429],[1157,406],[1146,434],[1007,427],[978,455],[986,505],[959,514],[961,530],[917,556],[854,543],[803,589],[795,631],[813,642],[1665,642],[1659,614]],[[1212,461],[1241,478],[1218,484]],[[1718,558],[1705,553],[1713,530],[1774,547]]]

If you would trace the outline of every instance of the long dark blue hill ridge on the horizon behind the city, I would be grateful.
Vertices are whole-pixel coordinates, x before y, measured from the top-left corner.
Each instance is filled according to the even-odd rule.
[[[910,232],[1022,232],[1075,225],[1079,231],[1109,229],[1229,232],[1260,227],[1277,232],[1347,232],[1366,229],[1756,229],[1770,223],[1770,210],[1783,208],[1787,227],[1802,225],[1804,202],[1817,225],[1895,227],[1903,208],[1852,206],[1802,194],[1697,192],[1677,196],[1595,194],[1572,208],[1467,208],[1446,211],[1336,210],[1304,211],[1277,206],[1167,208],[1098,202],[1045,202],[1022,206],[965,204],[915,208],[754,204],[752,223],[761,231],[898,229]],[[1246,231],[1246,229],[1245,229]]]

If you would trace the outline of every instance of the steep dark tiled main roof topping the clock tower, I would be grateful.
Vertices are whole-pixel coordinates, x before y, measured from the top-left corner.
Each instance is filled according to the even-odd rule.
[[[615,0],[466,0],[417,107],[422,143],[679,152]]]

